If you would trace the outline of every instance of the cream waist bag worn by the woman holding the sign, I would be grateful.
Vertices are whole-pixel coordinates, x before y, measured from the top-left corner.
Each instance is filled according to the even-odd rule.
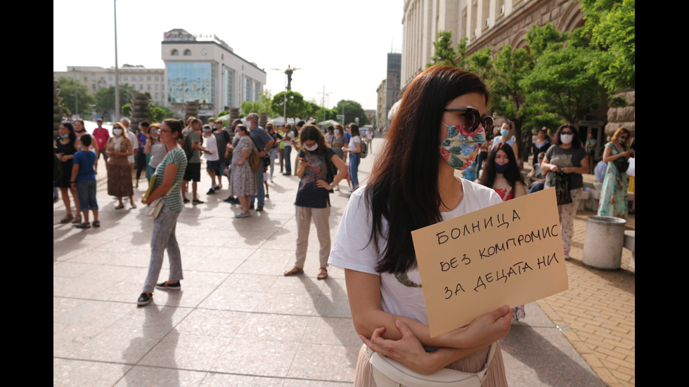
[[[378,387],[479,387],[488,374],[488,367],[497,345],[497,341],[491,344],[485,367],[476,373],[443,368],[433,374],[424,375],[409,369],[397,360],[374,353],[371,348],[366,347],[366,353],[368,362],[371,363],[375,385]]]

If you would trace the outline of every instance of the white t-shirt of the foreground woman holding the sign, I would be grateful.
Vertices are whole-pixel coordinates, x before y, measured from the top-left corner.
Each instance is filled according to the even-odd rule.
[[[500,196],[491,188],[462,179],[464,197],[455,209],[442,212],[443,221],[456,218],[472,211],[502,202]],[[365,188],[359,188],[349,198],[345,213],[342,214],[340,227],[337,229],[333,249],[330,251],[328,263],[337,268],[356,270],[362,273],[380,275],[380,303],[382,310],[393,315],[411,318],[423,324],[428,324],[426,303],[423,289],[407,287],[401,284],[390,273],[377,273],[375,265],[378,255],[373,244],[368,244],[371,237],[371,214],[366,209]],[[387,233],[387,222],[382,221],[382,234]],[[411,237],[411,235],[409,235]],[[385,242],[379,241],[379,251],[385,247]],[[409,280],[421,283],[418,268],[406,273]]]

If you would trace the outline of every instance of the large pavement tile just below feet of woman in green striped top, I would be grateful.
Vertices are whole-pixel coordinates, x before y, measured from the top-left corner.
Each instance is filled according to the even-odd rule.
[[[91,339],[70,358],[135,365],[191,312],[189,308],[146,308],[129,304],[130,312]],[[93,317],[97,318],[97,317]]]

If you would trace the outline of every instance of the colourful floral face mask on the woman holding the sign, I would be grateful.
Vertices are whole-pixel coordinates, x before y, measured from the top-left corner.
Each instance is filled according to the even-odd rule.
[[[470,132],[467,126],[450,125],[447,126],[447,138],[440,143],[440,155],[452,168],[463,171],[474,164],[479,148],[485,142],[483,126]]]

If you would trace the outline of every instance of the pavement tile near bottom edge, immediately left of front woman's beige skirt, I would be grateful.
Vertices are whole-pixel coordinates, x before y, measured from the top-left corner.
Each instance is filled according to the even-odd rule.
[[[360,347],[302,343],[286,376],[323,381],[354,381]]]

